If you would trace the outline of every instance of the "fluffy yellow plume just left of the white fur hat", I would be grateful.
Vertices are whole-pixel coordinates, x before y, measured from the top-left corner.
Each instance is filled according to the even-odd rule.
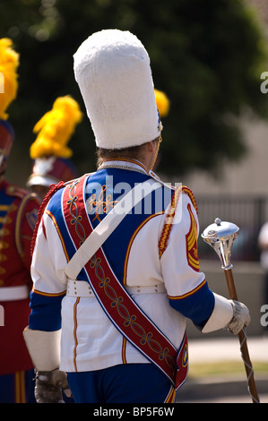
[[[49,157],[70,158],[73,151],[66,146],[75,125],[82,121],[78,103],[69,95],[59,97],[53,107],[34,126],[33,133],[39,133],[30,146],[30,158]]]

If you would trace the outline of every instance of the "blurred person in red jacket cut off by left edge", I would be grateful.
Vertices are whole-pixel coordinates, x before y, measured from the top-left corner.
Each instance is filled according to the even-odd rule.
[[[37,220],[39,201],[5,177],[13,146],[13,127],[5,110],[16,98],[19,55],[11,39],[0,39],[0,402],[35,402],[33,368],[22,338],[30,314],[30,242]]]

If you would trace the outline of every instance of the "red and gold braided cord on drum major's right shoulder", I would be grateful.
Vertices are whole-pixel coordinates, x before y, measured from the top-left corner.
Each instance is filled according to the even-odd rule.
[[[170,202],[170,205],[169,205],[169,211],[168,211],[166,221],[165,221],[164,227],[163,227],[161,235],[160,235],[160,241],[159,241],[160,257],[164,253],[164,251],[166,250],[168,240],[169,240],[170,231],[171,231],[171,228],[172,228],[173,219],[175,217],[175,213],[176,213],[176,210],[177,210],[177,203],[178,203],[180,194],[182,192],[186,193],[190,197],[191,202],[195,206],[195,211],[198,214],[197,204],[195,202],[194,193],[188,187],[186,187],[186,185],[178,186],[177,189],[175,189],[175,191],[172,195],[172,199],[171,199],[171,202]]]

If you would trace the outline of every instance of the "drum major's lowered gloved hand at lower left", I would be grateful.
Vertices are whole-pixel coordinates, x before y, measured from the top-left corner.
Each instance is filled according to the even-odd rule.
[[[51,372],[36,372],[34,395],[37,403],[65,403],[65,395],[70,398],[72,393],[67,382],[67,375],[56,368]]]

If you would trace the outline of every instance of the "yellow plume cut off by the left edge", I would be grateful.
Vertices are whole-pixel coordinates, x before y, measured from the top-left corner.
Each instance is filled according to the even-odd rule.
[[[5,110],[17,96],[19,54],[13,50],[13,41],[0,39],[0,119],[6,120]],[[4,90],[1,89],[4,87]]]

